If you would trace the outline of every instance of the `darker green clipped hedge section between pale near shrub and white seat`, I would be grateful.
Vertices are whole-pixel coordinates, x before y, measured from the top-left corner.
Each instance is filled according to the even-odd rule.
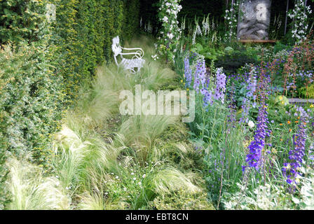
[[[69,97],[93,76],[97,64],[111,60],[114,36],[131,38],[139,25],[139,0],[51,0],[57,6],[53,23],[62,73]]]

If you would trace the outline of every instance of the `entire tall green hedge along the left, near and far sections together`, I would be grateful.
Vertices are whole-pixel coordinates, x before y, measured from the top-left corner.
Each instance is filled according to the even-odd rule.
[[[111,60],[112,38],[138,27],[139,0],[0,0],[0,209],[8,154],[33,151],[31,160],[48,167],[62,111]]]

